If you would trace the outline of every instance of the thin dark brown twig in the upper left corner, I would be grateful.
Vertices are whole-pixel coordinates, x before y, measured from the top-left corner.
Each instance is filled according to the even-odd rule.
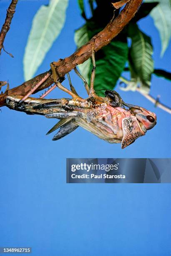
[[[0,54],[1,54],[1,50],[3,48],[3,43],[5,40],[5,36],[8,32],[8,30],[10,29],[10,24],[11,24],[11,20],[13,18],[13,15],[15,13],[15,7],[18,3],[18,0],[12,0],[12,2],[10,3],[10,6],[7,10],[7,15],[6,15],[6,19],[5,19],[5,23],[2,26],[2,29],[0,31]]]

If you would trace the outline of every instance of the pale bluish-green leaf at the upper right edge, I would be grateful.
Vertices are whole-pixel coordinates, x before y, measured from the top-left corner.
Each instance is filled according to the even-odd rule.
[[[146,2],[154,2],[146,0]],[[171,38],[171,3],[169,0],[159,0],[159,4],[153,8],[150,15],[154,20],[154,25],[158,29],[161,38],[161,56],[168,47]]]

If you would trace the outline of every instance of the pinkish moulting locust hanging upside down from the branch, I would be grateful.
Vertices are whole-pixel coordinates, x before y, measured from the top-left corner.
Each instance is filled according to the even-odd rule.
[[[47,74],[24,97],[7,96],[6,105],[8,108],[23,111],[27,114],[60,119],[47,133],[49,134],[59,128],[58,133],[53,137],[54,141],[63,138],[80,126],[109,143],[121,143],[121,148],[125,148],[156,125],[156,115],[145,108],[125,103],[116,91],[106,90],[106,97],[96,95],[94,90],[96,63],[93,44],[92,61],[93,69],[90,88],[82,75],[74,68],[75,73],[83,80],[85,90],[88,93],[86,99],[78,95],[71,83],[69,74],[67,75],[70,90],[57,81],[55,67],[51,64],[54,88],[58,87],[60,90],[67,92],[72,97],[71,99],[46,100],[44,97],[48,92],[40,98],[29,97],[34,92],[34,89],[36,90],[41,85],[41,82],[43,83],[49,77],[50,74]]]

